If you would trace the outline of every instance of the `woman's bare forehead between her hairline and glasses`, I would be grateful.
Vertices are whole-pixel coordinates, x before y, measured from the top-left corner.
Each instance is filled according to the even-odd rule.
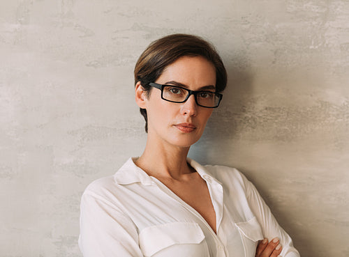
[[[177,81],[188,88],[216,86],[216,68],[202,56],[182,56],[168,65],[156,83],[166,84]]]

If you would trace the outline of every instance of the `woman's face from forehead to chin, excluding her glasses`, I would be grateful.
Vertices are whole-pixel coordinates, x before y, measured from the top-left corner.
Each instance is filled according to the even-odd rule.
[[[202,56],[183,56],[165,68],[158,84],[181,86],[192,91],[215,91],[216,70]],[[144,100],[148,118],[148,138],[188,148],[198,141],[213,109],[200,107],[194,95],[186,102],[175,103],[161,99],[161,91],[151,88]]]

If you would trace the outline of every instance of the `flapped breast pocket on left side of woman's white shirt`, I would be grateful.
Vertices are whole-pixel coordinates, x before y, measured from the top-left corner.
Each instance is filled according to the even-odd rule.
[[[171,222],[140,231],[140,249],[146,257],[209,257],[205,235],[192,222]]]

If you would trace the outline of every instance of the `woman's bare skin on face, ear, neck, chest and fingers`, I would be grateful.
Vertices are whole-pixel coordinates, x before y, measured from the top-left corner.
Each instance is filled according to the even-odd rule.
[[[183,56],[168,65],[154,82],[214,91],[216,70],[201,56]],[[197,210],[216,233],[216,213],[207,184],[186,162],[189,148],[202,136],[213,109],[198,106],[194,95],[184,103],[165,101],[157,88],[151,88],[147,97],[140,82],[135,86],[135,102],[147,109],[148,118],[147,144],[135,164]],[[255,256],[277,257],[281,252],[274,251],[278,244],[258,244]]]

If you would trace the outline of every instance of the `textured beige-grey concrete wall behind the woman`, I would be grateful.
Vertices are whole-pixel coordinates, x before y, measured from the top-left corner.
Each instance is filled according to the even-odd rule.
[[[0,256],[81,256],[80,196],[144,147],[133,65],[214,42],[223,104],[190,155],[253,180],[302,256],[349,256],[349,1],[0,3]]]

